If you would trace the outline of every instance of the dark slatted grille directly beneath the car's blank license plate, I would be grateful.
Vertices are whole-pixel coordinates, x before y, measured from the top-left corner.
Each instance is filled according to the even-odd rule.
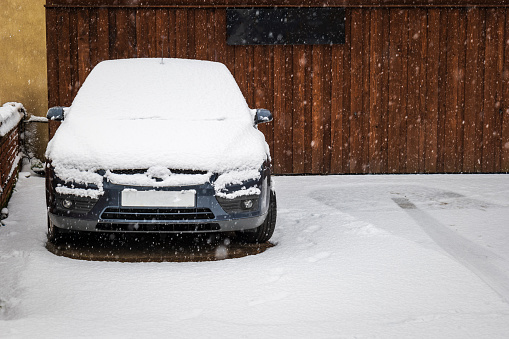
[[[119,221],[194,221],[214,219],[208,208],[115,208],[110,207],[101,214],[103,220]]]

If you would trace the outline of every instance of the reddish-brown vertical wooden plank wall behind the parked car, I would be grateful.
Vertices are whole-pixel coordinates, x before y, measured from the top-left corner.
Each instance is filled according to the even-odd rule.
[[[225,63],[276,173],[509,171],[509,10],[348,8],[346,43],[227,46],[224,8],[47,8],[49,105],[101,60]],[[51,134],[56,123],[51,124]]]

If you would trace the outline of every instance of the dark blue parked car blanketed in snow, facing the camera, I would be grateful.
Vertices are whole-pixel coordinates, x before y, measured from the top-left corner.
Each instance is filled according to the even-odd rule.
[[[270,154],[259,123],[221,63],[99,63],[46,150],[48,238],[65,230],[237,231],[270,239],[276,223]]]

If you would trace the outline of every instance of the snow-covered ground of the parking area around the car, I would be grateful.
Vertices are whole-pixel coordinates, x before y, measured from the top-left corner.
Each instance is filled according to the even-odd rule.
[[[0,337],[509,333],[509,175],[277,177],[266,252],[89,262],[45,249],[44,181],[0,228]]]

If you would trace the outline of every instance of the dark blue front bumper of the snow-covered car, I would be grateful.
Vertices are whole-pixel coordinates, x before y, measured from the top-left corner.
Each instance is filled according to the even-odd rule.
[[[204,233],[251,230],[265,220],[269,191],[267,177],[262,178],[261,194],[255,208],[242,211],[228,209],[218,201],[210,183],[197,186],[164,187],[165,191],[196,191],[194,208],[122,207],[124,189],[154,190],[154,187],[132,187],[104,182],[104,194],[97,201],[75,199],[76,208],[64,209],[59,201],[66,196],[52,192],[48,216],[54,226],[73,231],[122,232],[122,233]],[[88,204],[88,205],[87,205]],[[88,208],[87,208],[88,206]],[[223,207],[222,207],[223,206]],[[229,210],[229,212],[225,211]]]

